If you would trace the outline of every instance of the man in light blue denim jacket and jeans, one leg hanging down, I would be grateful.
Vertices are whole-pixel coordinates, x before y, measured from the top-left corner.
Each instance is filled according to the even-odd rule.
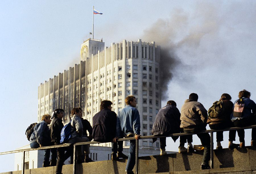
[[[118,138],[135,137],[139,139],[141,132],[141,122],[139,111],[136,107],[136,99],[134,96],[127,96],[125,98],[126,106],[121,109],[117,115],[116,134],[117,138],[114,138],[114,142],[117,142]],[[130,140],[129,156],[125,171],[127,173],[133,173],[133,167],[135,165],[135,140]]]

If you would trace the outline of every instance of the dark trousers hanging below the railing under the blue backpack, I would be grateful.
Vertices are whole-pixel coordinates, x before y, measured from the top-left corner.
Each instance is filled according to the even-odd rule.
[[[54,145],[60,145],[60,143],[55,142]],[[65,153],[65,150],[67,151]],[[56,174],[61,174],[62,171],[62,165],[68,159],[71,154],[73,154],[73,148],[71,147],[63,147],[63,148],[57,148],[57,165],[56,165]]]

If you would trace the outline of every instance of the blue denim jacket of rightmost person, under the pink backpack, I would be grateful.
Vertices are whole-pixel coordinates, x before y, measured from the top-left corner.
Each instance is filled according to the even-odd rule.
[[[251,118],[256,112],[256,104],[253,100],[251,100],[249,98],[243,97],[242,99],[243,99],[243,102],[244,102],[244,110],[243,110],[243,113],[242,113],[242,117],[240,117],[240,119]],[[236,100],[234,102],[233,111],[234,111],[235,104],[238,100]],[[230,115],[230,118],[231,118],[231,121],[235,121],[236,119],[239,119],[238,117],[233,116],[233,112]]]

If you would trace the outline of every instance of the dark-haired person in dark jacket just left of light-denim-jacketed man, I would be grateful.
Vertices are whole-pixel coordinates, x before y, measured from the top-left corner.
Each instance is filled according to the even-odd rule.
[[[117,115],[112,111],[112,102],[103,100],[100,102],[100,111],[92,118],[93,130],[92,137],[94,141],[110,142],[116,135],[116,118]],[[123,141],[111,142],[112,153],[111,159],[128,158],[123,154]],[[117,153],[117,155],[116,155]]]

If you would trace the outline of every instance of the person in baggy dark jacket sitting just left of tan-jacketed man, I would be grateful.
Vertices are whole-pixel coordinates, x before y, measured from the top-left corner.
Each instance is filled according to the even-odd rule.
[[[154,136],[161,135],[169,135],[174,133],[183,132],[180,126],[180,113],[179,109],[176,107],[177,104],[173,100],[167,101],[167,105],[162,107],[158,114],[156,115],[156,120],[152,127],[152,134]],[[178,136],[172,136],[174,142],[178,139]],[[160,139],[160,155],[165,155],[165,147],[166,147],[166,137],[159,138]],[[180,145],[179,145],[179,153],[187,152],[187,148],[184,147],[185,143],[191,139],[192,135],[184,135],[180,136]],[[153,142],[156,141],[156,138],[153,138]],[[192,147],[192,145],[191,145]]]

